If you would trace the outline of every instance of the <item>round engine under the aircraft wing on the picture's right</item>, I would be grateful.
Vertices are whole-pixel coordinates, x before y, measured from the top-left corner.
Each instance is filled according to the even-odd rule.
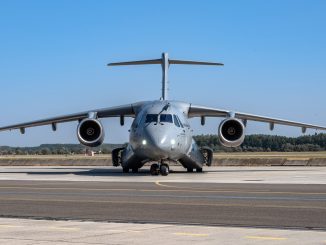
[[[222,145],[237,147],[244,141],[245,126],[236,118],[225,119],[218,128],[218,136]]]

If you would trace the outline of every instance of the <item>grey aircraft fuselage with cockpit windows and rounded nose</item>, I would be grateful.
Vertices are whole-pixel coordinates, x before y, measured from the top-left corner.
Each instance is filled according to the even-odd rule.
[[[204,160],[192,138],[187,108],[189,103],[168,100],[147,102],[139,108],[131,125],[129,144],[122,153],[122,166],[136,168],[149,161],[183,159],[185,167],[202,168]],[[196,162],[189,153],[198,158]]]

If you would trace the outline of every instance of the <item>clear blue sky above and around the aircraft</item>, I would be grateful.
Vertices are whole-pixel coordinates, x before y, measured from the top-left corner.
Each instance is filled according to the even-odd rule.
[[[0,125],[158,99],[159,66],[114,61],[171,58],[225,63],[171,66],[170,98],[326,124],[326,1],[0,1]],[[195,134],[216,133],[219,119]],[[108,143],[130,120],[103,120]],[[0,145],[77,143],[77,123],[0,133]],[[248,133],[271,133],[249,123]],[[314,131],[308,131],[314,133]],[[300,129],[276,126],[273,134]]]

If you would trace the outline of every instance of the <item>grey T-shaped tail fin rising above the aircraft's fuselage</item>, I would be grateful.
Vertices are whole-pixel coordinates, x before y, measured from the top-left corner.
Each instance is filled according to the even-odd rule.
[[[160,64],[162,66],[162,99],[168,100],[168,71],[171,64],[175,65],[214,65],[222,66],[222,63],[190,61],[190,60],[170,60],[168,53],[162,53],[161,59],[155,60],[138,60],[109,63],[108,66],[124,66],[124,65],[153,65]]]

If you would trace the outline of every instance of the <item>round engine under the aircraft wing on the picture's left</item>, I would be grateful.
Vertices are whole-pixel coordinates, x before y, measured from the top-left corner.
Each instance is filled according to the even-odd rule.
[[[104,129],[101,122],[94,118],[85,118],[77,128],[77,137],[81,144],[96,147],[104,141]]]

